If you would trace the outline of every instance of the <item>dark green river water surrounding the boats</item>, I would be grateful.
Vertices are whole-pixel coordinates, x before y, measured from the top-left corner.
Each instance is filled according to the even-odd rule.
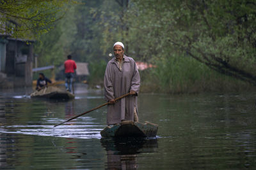
[[[76,87],[71,101],[30,99],[31,89],[1,90],[1,169],[255,169],[256,93],[140,94],[140,122],[153,139],[101,139],[100,90]]]

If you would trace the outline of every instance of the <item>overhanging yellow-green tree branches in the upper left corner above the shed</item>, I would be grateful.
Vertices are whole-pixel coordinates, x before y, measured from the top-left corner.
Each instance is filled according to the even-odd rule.
[[[52,23],[63,17],[70,2],[70,0],[1,0],[0,33],[16,38],[31,38],[47,32],[51,29]]]

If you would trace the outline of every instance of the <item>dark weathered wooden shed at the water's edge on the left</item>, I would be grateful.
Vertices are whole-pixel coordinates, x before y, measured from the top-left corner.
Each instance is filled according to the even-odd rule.
[[[0,87],[32,85],[33,42],[0,34]]]

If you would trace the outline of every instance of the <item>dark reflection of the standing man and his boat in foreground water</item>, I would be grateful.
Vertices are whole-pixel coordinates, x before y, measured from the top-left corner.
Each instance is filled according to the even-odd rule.
[[[108,169],[138,169],[138,154],[141,149],[149,148],[154,152],[154,148],[157,148],[157,139],[100,139],[100,143],[107,152]]]

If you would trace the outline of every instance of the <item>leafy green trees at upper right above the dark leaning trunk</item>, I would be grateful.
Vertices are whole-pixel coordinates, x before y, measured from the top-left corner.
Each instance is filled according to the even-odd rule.
[[[188,55],[218,73],[256,85],[254,1],[133,1],[131,44],[140,56]],[[130,46],[131,48],[131,46]],[[181,53],[183,52],[183,54]],[[172,56],[172,55],[170,55]]]

